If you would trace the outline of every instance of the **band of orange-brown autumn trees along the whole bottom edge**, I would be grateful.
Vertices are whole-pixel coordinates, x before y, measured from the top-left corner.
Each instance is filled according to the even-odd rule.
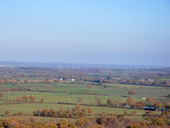
[[[78,106],[77,106],[78,107]],[[78,107],[79,108],[79,107]],[[54,115],[54,110],[49,110]],[[126,112],[128,113],[128,112]],[[124,118],[121,114],[106,114],[102,112],[94,120],[87,119],[84,116],[78,116],[74,123],[69,123],[63,118],[60,122],[48,121],[40,122],[36,117],[30,118],[8,118],[0,119],[0,127],[42,127],[42,128],[152,128],[152,127],[169,127],[170,112],[162,112],[161,115],[156,115],[154,112],[146,112],[142,121],[137,121],[132,118]]]

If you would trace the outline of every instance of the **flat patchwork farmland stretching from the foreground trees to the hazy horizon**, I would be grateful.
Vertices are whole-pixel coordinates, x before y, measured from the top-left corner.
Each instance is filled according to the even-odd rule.
[[[59,111],[62,108],[66,111],[80,106],[81,110],[92,110],[91,114],[84,115],[91,123],[102,113],[108,117],[121,116],[140,122],[147,113],[144,106],[156,106],[158,102],[160,106],[153,115],[160,117],[162,112],[159,108],[165,108],[164,102],[169,105],[170,101],[167,97],[170,94],[168,71],[169,69],[1,68],[0,119],[29,118],[35,116],[33,112],[38,110]],[[134,101],[128,102],[128,98]],[[153,98],[153,102],[148,102],[148,98]],[[51,118],[35,117],[43,121],[62,119],[60,115]],[[77,119],[77,116],[67,118],[73,123]]]

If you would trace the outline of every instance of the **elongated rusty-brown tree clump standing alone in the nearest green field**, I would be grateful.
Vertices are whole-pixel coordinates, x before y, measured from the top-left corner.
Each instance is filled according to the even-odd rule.
[[[34,116],[45,116],[45,117],[58,117],[58,118],[80,118],[84,117],[88,113],[91,115],[93,113],[91,108],[81,109],[80,105],[76,105],[73,109],[63,110],[60,108],[58,111],[54,109],[43,109],[33,112]]]

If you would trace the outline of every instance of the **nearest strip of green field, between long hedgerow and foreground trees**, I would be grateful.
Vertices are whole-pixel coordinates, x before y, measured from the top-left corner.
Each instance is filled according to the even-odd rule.
[[[35,110],[42,110],[42,109],[50,109],[53,108],[55,110],[59,110],[59,108],[63,108],[64,110],[67,110],[68,108],[72,109],[75,107],[75,105],[59,105],[59,104],[20,104],[20,105],[1,105],[1,109],[0,109],[0,115],[3,115],[4,112],[6,110],[10,111],[10,115],[14,114],[14,113],[28,113],[30,115],[33,114],[33,111]],[[81,108],[85,108],[87,109],[88,106],[81,106]],[[126,109],[122,109],[122,108],[109,108],[109,107],[92,107],[90,106],[90,108],[92,108],[93,114],[99,114],[102,112],[106,112],[107,114],[123,114],[124,111]],[[136,109],[128,109],[127,110],[128,113],[130,114],[133,111],[136,111],[136,119],[137,120],[142,120],[142,115],[144,114],[144,110],[136,110]],[[93,114],[91,116],[87,117],[95,117],[93,116]],[[1,117],[4,118],[4,117]],[[127,118],[129,118],[129,116],[127,116]]]

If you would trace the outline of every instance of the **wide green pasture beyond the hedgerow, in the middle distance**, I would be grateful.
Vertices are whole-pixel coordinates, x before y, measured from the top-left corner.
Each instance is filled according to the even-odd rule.
[[[19,87],[27,87],[31,91],[17,91],[17,92],[5,92],[8,99],[14,100],[17,96],[35,95],[36,101],[40,101],[44,98],[44,102],[65,102],[65,103],[77,103],[79,97],[82,98],[82,103],[85,104],[95,104],[95,97],[100,97],[103,103],[106,103],[107,99],[118,99],[123,102],[126,101],[128,91],[134,90],[136,95],[133,95],[133,99],[136,101],[142,100],[143,97],[153,97],[154,99],[160,100],[164,99],[164,96],[168,95],[170,88],[165,87],[154,87],[154,86],[142,86],[142,85],[127,85],[127,84],[107,84],[107,88],[99,85],[92,85],[90,89],[87,88],[87,84],[50,84],[49,86],[53,88],[48,92],[44,84],[21,84],[17,85]],[[12,87],[14,85],[5,85],[5,87]],[[36,88],[39,88],[36,91]],[[88,92],[87,92],[88,91]]]

